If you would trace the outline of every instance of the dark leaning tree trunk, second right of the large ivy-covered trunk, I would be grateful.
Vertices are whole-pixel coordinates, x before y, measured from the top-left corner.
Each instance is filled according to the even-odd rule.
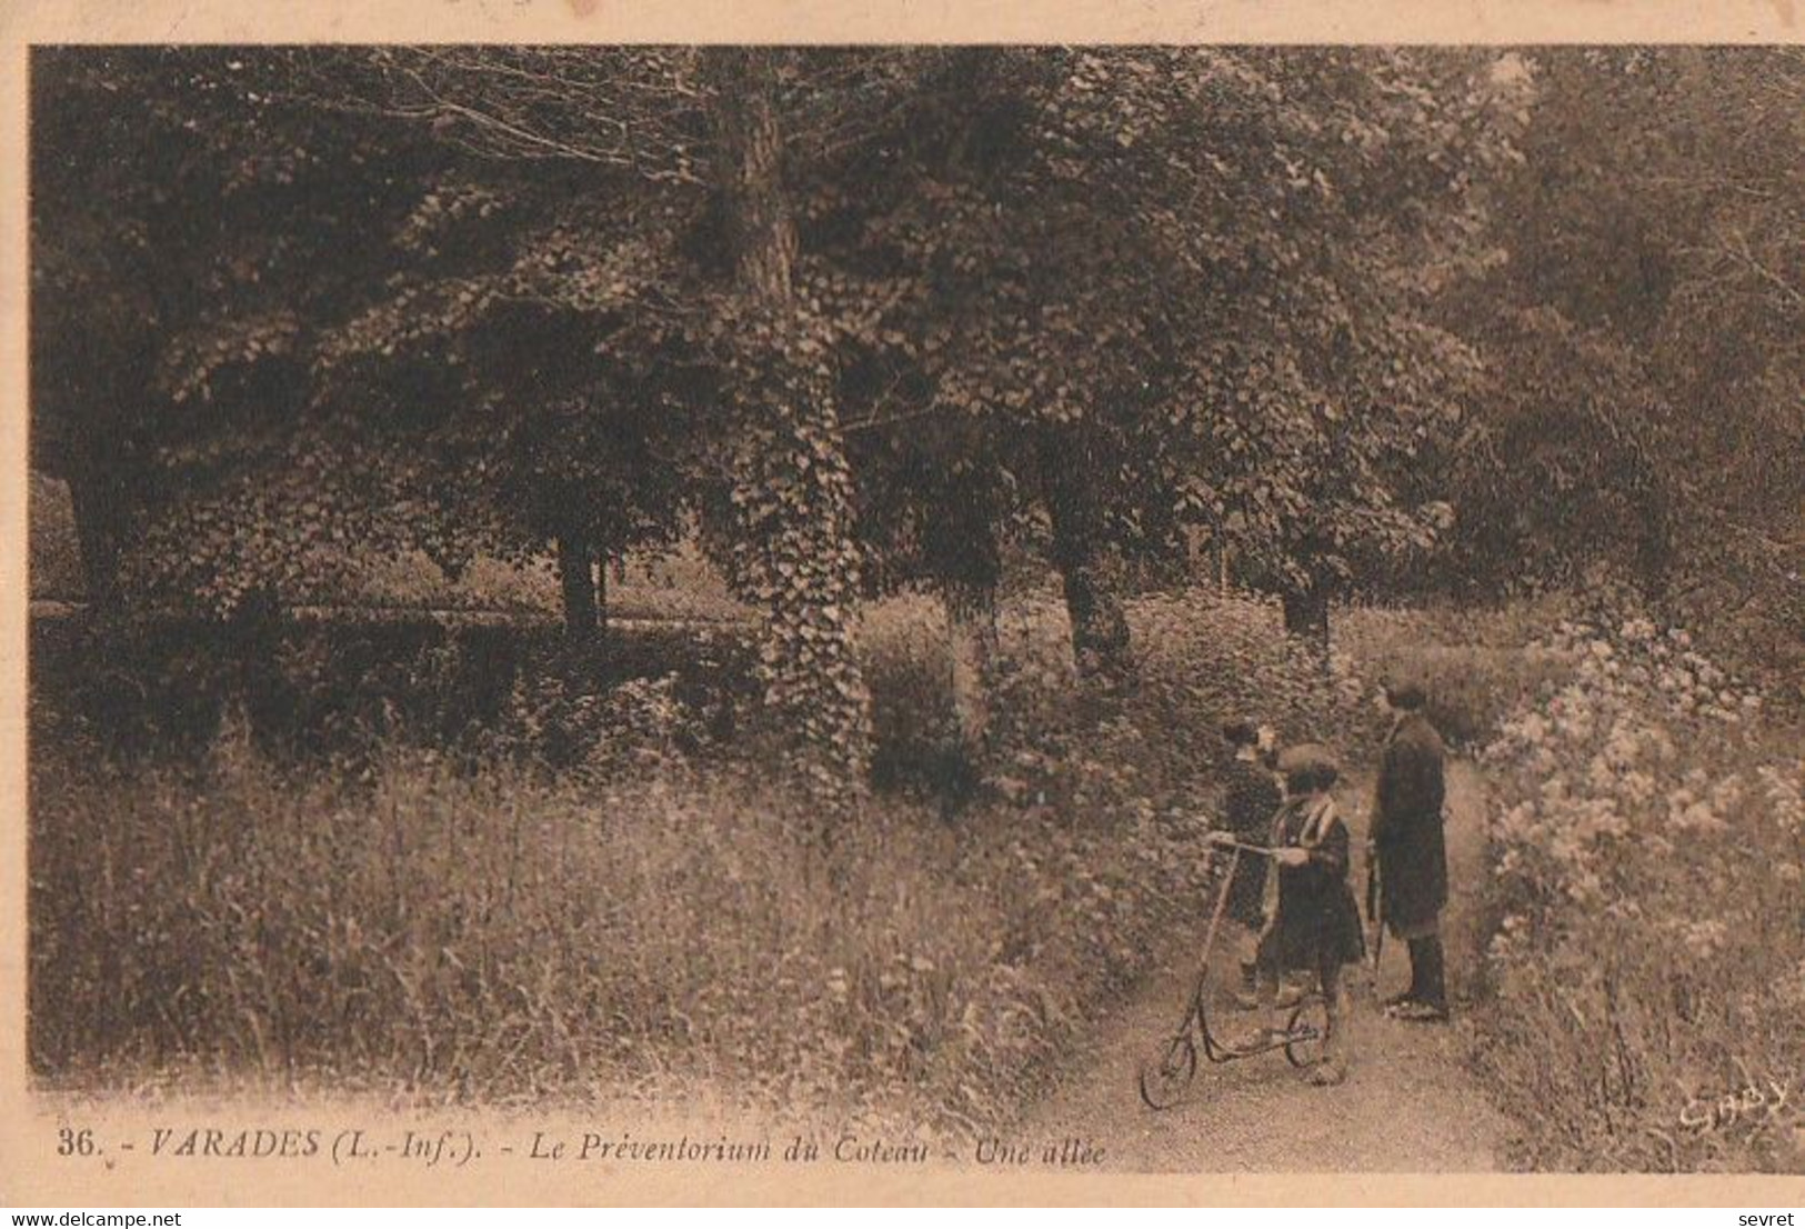
[[[1065,614],[1072,623],[1072,659],[1079,679],[1105,686],[1135,677],[1128,642],[1128,615],[1121,597],[1103,576],[1097,541],[1099,509],[1085,476],[1085,458],[1070,439],[1041,455],[1047,514],[1052,522],[1052,565],[1065,588]]]

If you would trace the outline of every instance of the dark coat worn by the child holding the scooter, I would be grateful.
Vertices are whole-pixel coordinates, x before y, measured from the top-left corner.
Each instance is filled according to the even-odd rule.
[[[1273,823],[1274,846],[1303,846],[1310,861],[1278,868],[1278,913],[1260,938],[1262,958],[1282,969],[1323,969],[1366,955],[1359,906],[1348,886],[1348,828],[1330,816],[1310,832],[1310,803],[1285,803]]]

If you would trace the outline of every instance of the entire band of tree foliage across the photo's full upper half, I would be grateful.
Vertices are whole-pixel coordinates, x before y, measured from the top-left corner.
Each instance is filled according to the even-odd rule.
[[[121,49],[32,79],[34,446],[96,596],[231,610],[347,552],[556,543],[583,628],[594,563],[700,516],[794,599],[805,709],[861,588],[982,610],[1014,545],[1087,670],[1128,668],[1112,561],[1200,545],[1298,630],[1596,563],[1751,651],[1800,615],[1791,49]],[[783,475],[847,507],[744,567]]]

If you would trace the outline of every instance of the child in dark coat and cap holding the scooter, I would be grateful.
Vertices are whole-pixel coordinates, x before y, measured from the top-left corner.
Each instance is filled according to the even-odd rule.
[[[1278,758],[1285,805],[1273,819],[1274,908],[1260,935],[1262,996],[1276,994],[1283,971],[1312,971],[1328,1014],[1323,1061],[1310,1083],[1347,1077],[1341,1040],[1341,966],[1365,956],[1359,910],[1348,886],[1348,830],[1330,796],[1339,771],[1323,747],[1291,747]],[[1271,1036],[1271,1032],[1267,1034]]]

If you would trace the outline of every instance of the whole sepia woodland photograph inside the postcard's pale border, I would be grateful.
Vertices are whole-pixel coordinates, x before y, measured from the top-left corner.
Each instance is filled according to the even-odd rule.
[[[38,1094],[1805,1173],[1805,49],[40,45],[27,188]]]

